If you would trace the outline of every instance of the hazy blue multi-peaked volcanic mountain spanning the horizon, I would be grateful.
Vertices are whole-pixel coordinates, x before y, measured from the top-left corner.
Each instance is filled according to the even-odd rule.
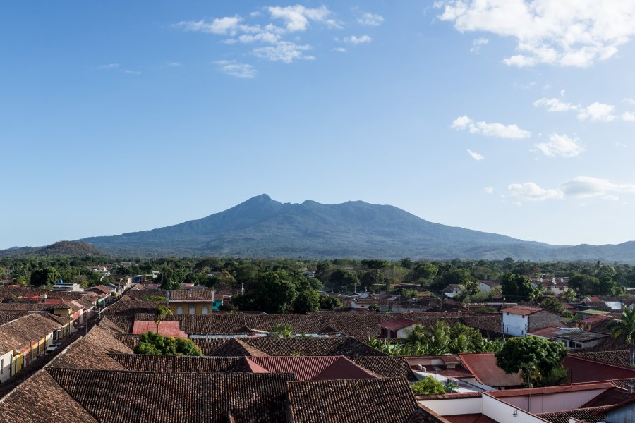
[[[618,245],[549,245],[433,223],[391,205],[360,200],[340,204],[305,200],[291,204],[272,200],[267,194],[201,219],[77,242],[89,243],[102,252],[140,257],[512,257],[533,261],[635,262],[635,241]]]

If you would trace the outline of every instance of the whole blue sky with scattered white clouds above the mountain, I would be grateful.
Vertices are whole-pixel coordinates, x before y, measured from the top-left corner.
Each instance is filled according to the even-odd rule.
[[[635,240],[635,4],[0,6],[0,248],[263,192],[554,244]]]

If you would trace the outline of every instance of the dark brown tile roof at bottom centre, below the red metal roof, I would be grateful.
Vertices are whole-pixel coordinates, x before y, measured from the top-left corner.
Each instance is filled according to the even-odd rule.
[[[301,381],[288,386],[294,423],[406,423],[418,410],[406,379]]]

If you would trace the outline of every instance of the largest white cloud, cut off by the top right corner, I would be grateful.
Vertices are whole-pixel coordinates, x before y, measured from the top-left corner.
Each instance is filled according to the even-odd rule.
[[[614,56],[635,35],[629,0],[442,0],[441,20],[460,32],[516,39],[509,66],[590,66]]]

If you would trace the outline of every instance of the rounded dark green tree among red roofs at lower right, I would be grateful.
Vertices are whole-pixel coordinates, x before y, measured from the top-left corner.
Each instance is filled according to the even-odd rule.
[[[521,372],[528,386],[534,382],[543,384],[550,375],[562,369],[567,357],[567,347],[562,342],[552,342],[538,336],[511,338],[496,353],[496,365],[507,374]]]

